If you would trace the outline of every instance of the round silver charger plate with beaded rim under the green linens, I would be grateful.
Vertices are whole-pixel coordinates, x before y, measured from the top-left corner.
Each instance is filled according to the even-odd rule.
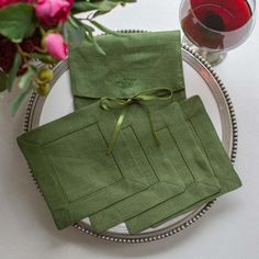
[[[140,31],[123,31],[138,33]],[[183,71],[187,95],[199,94],[207,110],[207,113],[222,139],[232,162],[235,161],[237,153],[237,123],[230,98],[210,64],[195,54],[188,46],[182,46]],[[53,68],[54,80],[52,91],[47,98],[40,97],[33,92],[26,110],[24,132],[38,127],[45,123],[57,120],[74,111],[72,94],[70,91],[68,61],[61,61]],[[33,180],[41,192],[40,187],[31,171]],[[91,236],[116,243],[147,243],[172,236],[202,217],[213,205],[215,200],[184,215],[176,217],[156,228],[149,228],[140,234],[131,235],[125,224],[117,225],[100,235],[92,230],[88,218],[85,218],[74,227]]]

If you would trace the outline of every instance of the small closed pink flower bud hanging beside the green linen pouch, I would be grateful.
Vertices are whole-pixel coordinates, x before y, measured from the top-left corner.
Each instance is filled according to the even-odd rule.
[[[45,37],[47,52],[57,60],[64,60],[68,54],[68,45],[59,33],[49,33]]]

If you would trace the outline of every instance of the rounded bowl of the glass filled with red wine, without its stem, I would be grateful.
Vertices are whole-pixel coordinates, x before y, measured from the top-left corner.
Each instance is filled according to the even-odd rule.
[[[234,47],[247,36],[252,25],[249,22],[252,12],[246,0],[190,0],[189,8],[181,20],[182,30],[201,47]]]

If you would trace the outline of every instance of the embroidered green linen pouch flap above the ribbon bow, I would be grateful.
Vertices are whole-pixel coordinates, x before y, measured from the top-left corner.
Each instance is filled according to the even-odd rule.
[[[185,98],[179,31],[101,35],[95,41],[105,56],[87,42],[69,49],[76,109],[153,88],[170,88],[173,100]]]

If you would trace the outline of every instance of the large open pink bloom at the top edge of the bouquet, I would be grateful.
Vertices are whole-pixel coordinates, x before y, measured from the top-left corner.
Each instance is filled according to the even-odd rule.
[[[56,26],[67,21],[72,3],[74,0],[38,0],[35,13],[42,25]]]

